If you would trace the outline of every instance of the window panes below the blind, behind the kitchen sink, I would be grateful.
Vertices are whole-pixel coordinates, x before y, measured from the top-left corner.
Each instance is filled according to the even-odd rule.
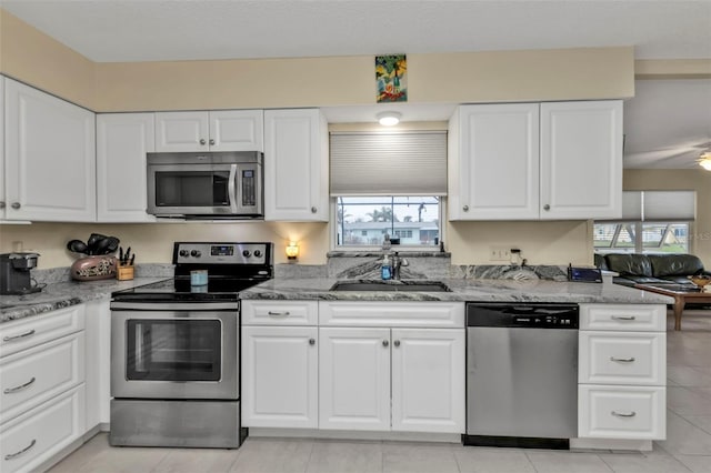
[[[337,246],[380,246],[384,235],[403,246],[437,246],[441,198],[339,197]]]

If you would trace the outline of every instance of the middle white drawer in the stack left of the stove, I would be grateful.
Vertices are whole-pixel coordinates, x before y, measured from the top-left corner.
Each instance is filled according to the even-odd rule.
[[[82,383],[83,350],[79,332],[0,360],[0,422]]]

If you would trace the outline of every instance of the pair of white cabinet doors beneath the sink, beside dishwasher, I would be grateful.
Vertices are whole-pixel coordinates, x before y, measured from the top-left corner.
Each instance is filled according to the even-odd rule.
[[[319,427],[464,432],[464,330],[321,328]]]

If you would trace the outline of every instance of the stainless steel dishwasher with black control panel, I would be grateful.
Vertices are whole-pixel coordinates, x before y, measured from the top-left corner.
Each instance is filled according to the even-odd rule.
[[[467,304],[465,444],[569,447],[578,319],[577,304]]]

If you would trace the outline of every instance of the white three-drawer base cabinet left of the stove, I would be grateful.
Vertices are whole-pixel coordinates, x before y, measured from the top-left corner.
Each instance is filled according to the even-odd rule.
[[[33,471],[86,432],[84,305],[0,325],[0,471]]]

